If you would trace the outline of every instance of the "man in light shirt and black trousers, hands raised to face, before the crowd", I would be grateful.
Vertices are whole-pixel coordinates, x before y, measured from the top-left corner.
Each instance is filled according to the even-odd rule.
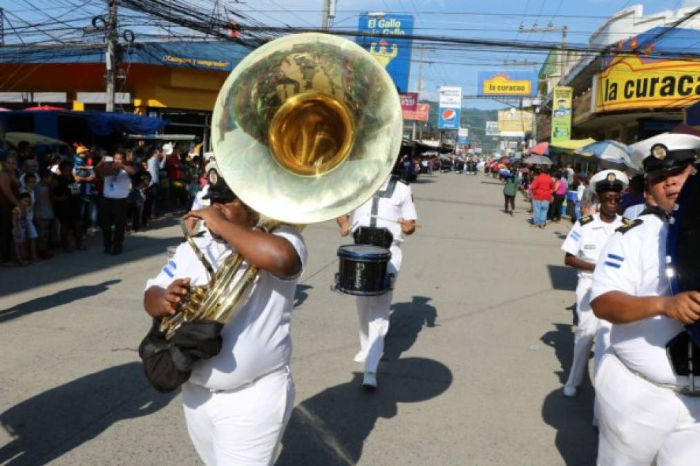
[[[136,174],[136,170],[124,163],[124,154],[118,150],[114,153],[113,161],[103,157],[95,167],[95,172],[104,178],[102,205],[99,209],[104,253],[118,255],[123,251],[131,177]]]

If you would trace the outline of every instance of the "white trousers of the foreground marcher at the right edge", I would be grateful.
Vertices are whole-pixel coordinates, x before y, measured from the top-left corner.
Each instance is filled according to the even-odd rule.
[[[596,376],[598,466],[700,464],[700,397],[636,376],[612,353]]]

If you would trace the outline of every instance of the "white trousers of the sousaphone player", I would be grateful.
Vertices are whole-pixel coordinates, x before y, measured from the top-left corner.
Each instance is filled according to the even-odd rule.
[[[231,391],[185,383],[187,430],[207,466],[267,466],[277,460],[294,407],[287,367]]]

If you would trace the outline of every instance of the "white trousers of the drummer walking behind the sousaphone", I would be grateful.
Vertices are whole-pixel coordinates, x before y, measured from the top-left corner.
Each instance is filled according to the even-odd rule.
[[[394,245],[389,250],[391,250],[391,260],[387,271],[398,278],[402,258],[401,248]],[[384,337],[389,330],[389,308],[392,297],[392,291],[379,296],[356,297],[357,315],[360,320],[360,351],[367,355],[365,373],[377,372],[379,359],[384,353]]]

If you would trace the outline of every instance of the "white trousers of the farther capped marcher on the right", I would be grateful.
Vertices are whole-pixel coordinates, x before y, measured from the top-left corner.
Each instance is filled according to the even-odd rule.
[[[576,286],[578,325],[573,340],[573,361],[566,381],[567,386],[577,387],[581,385],[583,376],[588,369],[593,340],[601,325],[600,320],[591,309],[591,283],[591,278],[581,277]]]

